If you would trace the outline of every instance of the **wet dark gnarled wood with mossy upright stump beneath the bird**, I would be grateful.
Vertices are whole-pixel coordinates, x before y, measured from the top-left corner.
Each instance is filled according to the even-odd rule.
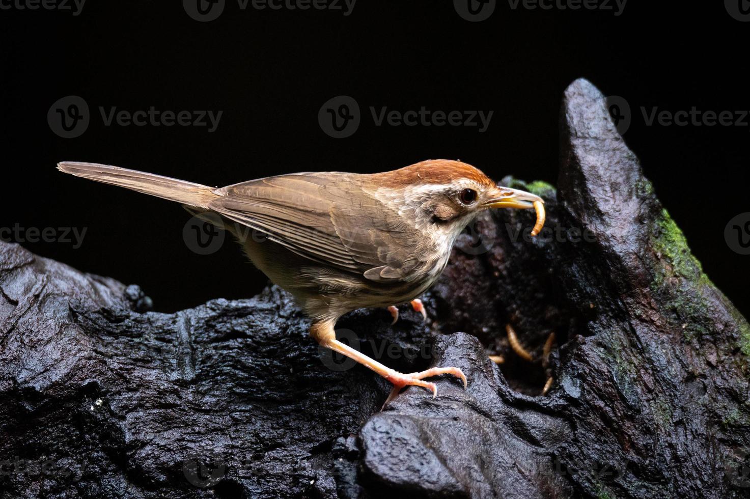
[[[2,497],[747,497],[750,327],[598,90],[574,82],[560,123],[556,189],[503,179],[544,197],[540,236],[486,215],[426,323],[338,323],[401,371],[460,367],[468,388],[437,378],[435,399],[381,410],[388,383],[320,350],[278,288],[162,314],[0,242]]]

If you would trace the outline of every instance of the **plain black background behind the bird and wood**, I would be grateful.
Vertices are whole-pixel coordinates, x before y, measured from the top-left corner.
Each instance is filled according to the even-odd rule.
[[[180,2],[89,0],[78,16],[2,10],[0,227],[87,227],[77,249],[25,246],[140,284],[159,311],[248,297],[265,276],[228,239],[208,256],[190,251],[182,239],[189,215],[178,204],[66,176],[55,164],[94,161],[226,185],[460,158],[494,179],[555,183],[562,91],[586,77],[604,95],[628,101],[625,140],[709,278],[747,315],[750,257],[727,247],[724,227],[750,211],[750,127],[647,126],[640,112],[750,109],[750,23],[730,17],[722,2],[685,3],[630,0],[615,16],[514,10],[504,0],[479,23],[463,20],[452,2],[432,0],[359,0],[348,16],[243,11],[227,0],[210,23],[191,19]],[[92,115],[73,139],[53,134],[46,119],[67,95],[86,99]],[[362,108],[359,130],[345,139],[324,134],[317,121],[322,104],[337,95]],[[223,116],[214,133],[106,127],[100,106]],[[494,114],[484,133],[377,127],[371,106]]]

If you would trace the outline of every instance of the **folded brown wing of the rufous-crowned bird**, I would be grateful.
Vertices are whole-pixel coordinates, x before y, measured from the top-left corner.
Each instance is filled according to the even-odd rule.
[[[208,209],[318,263],[381,282],[409,280],[423,263],[416,228],[363,192],[359,176],[299,173],[215,192]]]

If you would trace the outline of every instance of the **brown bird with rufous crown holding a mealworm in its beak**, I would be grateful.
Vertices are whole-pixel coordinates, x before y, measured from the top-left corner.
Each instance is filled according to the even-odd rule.
[[[535,208],[536,235],[544,224],[540,197],[498,187],[460,161],[422,161],[385,173],[293,173],[223,188],[104,164],[63,162],[58,170],[213,212],[232,221],[248,257],[291,293],[311,318],[310,335],[385,377],[394,388],[431,389],[425,377],[455,367],[402,374],[338,341],[334,326],[356,308],[387,307],[425,293],[443,272],[464,227],[485,209]],[[233,225],[235,228],[233,229]],[[242,236],[237,227],[265,236]]]

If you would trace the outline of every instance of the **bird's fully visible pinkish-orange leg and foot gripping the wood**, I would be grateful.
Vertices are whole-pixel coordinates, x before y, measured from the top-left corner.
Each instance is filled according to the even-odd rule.
[[[431,368],[427,371],[413,372],[410,374],[400,373],[389,368],[387,365],[377,362],[375,359],[371,359],[359,350],[338,341],[336,339],[333,325],[334,321],[331,320],[314,323],[310,328],[310,335],[321,346],[330,348],[335,352],[341,353],[341,355],[347,356],[350,359],[365,365],[365,367],[371,368],[373,371],[377,372],[377,374],[380,374],[385,377],[386,380],[393,383],[393,389],[386,400],[386,404],[398,395],[399,390],[404,388],[404,386],[410,385],[422,386],[430,390],[432,392],[432,398],[435,398],[437,396],[437,386],[435,386],[435,383],[423,381],[422,378],[437,376],[439,374],[453,374],[455,377],[459,377],[460,380],[463,381],[463,388],[466,388],[466,376],[463,375],[463,372],[461,372],[459,368]]]

